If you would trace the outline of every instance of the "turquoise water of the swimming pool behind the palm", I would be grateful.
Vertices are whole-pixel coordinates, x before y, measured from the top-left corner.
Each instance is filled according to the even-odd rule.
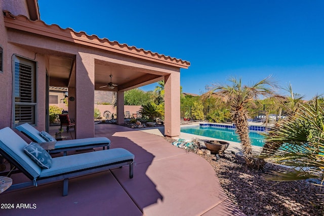
[[[221,140],[228,140],[239,143],[238,135],[235,134],[234,129],[228,128],[219,128],[219,127],[206,127],[206,126],[193,126],[181,128],[181,132],[200,135],[204,137],[212,137]],[[263,146],[264,145],[264,136],[258,132],[249,133],[251,144],[254,146]]]

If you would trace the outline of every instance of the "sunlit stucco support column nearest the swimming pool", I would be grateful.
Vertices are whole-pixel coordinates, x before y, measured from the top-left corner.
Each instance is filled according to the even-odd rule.
[[[180,72],[165,76],[165,135],[180,136]]]

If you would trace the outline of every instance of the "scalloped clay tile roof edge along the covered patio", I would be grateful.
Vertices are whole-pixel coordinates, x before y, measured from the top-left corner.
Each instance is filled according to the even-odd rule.
[[[138,57],[150,61],[165,63],[180,68],[188,68],[190,62],[166,56],[163,54],[146,51],[127,44],[119,44],[117,41],[110,41],[107,38],[99,38],[97,35],[88,35],[84,31],[76,32],[72,28],[61,28],[57,24],[48,25],[42,20],[30,20],[23,15],[15,16],[9,11],[3,11],[6,27],[15,28],[32,33],[43,32],[43,35],[52,36],[58,39],[71,41],[77,44],[96,47],[112,52]]]

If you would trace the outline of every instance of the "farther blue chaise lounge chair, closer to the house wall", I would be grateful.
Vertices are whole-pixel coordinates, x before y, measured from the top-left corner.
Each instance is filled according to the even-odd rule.
[[[30,140],[32,140],[35,143],[49,142],[48,140],[44,139],[44,136],[42,137],[41,132],[37,131],[36,128],[34,128],[28,123],[21,124],[17,126],[16,129],[18,129],[18,131],[26,135]],[[54,149],[48,151],[49,153],[63,152],[63,155],[66,156],[67,151],[71,151],[71,150],[89,149],[89,148],[96,148],[96,147],[102,147],[102,149],[104,150],[105,147],[109,149],[109,146],[110,146],[110,140],[108,138],[95,137],[95,138],[57,141],[55,143]]]

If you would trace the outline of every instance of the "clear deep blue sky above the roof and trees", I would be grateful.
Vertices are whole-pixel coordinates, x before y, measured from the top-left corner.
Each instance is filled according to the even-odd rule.
[[[324,93],[324,1],[38,0],[38,5],[47,24],[189,61],[189,69],[181,69],[183,92],[200,94],[206,85],[233,76],[249,84],[272,74],[306,99]]]

